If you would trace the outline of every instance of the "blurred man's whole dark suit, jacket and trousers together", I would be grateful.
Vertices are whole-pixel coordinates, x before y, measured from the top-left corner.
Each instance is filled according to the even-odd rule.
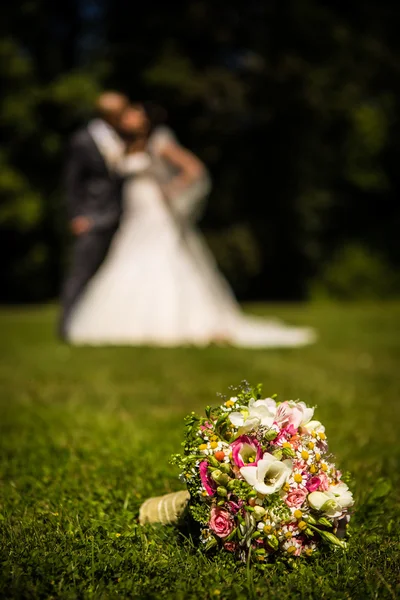
[[[122,178],[110,168],[90,125],[72,137],[65,168],[65,189],[69,219],[88,217],[92,227],[76,236],[73,242],[70,267],[61,293],[62,337],[66,336],[75,302],[108,252],[121,216]]]

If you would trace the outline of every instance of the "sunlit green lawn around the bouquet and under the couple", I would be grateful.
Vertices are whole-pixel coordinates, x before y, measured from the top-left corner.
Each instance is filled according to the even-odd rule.
[[[256,307],[258,312],[265,307]],[[0,312],[0,593],[5,598],[396,598],[400,304],[269,307],[307,323],[302,350],[70,348],[53,308]],[[265,573],[209,558],[171,527],[137,526],[183,417],[247,379],[317,408],[354,476],[349,551]]]

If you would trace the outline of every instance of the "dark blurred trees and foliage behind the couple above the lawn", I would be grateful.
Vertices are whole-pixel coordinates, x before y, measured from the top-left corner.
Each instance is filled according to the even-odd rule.
[[[201,227],[240,297],[399,292],[395,3],[4,0],[0,11],[2,301],[58,293],[64,147],[103,86],[163,105],[209,166]]]

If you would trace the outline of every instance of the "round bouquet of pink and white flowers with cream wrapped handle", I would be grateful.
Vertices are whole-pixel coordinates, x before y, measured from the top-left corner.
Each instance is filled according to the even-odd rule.
[[[173,461],[188,493],[177,492],[179,508],[164,522],[178,520],[186,507],[206,550],[233,552],[242,561],[344,548],[353,497],[314,408],[262,398],[260,385],[244,384],[223,400],[204,417],[186,418],[184,454]],[[176,504],[174,494],[168,497]],[[166,500],[153,502],[153,518],[147,504],[141,522],[161,520],[154,509]]]

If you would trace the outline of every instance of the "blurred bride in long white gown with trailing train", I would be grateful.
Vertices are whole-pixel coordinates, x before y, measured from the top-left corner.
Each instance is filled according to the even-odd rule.
[[[73,344],[290,347],[314,341],[311,329],[245,315],[193,221],[209,180],[172,132],[149,136],[140,108],[121,129],[130,143],[123,217],[109,254],[68,325]]]

